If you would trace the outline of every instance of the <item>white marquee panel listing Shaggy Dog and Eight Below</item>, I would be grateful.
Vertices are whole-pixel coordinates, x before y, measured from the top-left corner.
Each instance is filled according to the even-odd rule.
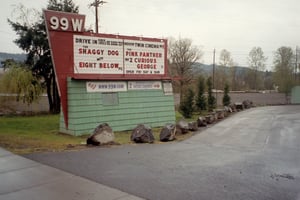
[[[123,40],[74,35],[75,74],[123,74]]]

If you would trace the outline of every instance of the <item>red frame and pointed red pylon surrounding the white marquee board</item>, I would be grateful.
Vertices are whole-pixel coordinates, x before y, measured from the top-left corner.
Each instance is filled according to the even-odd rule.
[[[49,17],[59,16],[60,18],[66,17],[67,19],[79,18],[83,20],[83,28],[85,24],[85,15],[76,13],[65,13],[51,10],[44,10],[44,18],[47,30],[47,36],[52,56],[52,63],[54,66],[54,72],[56,77],[56,83],[59,89],[59,95],[61,97],[62,111],[64,115],[65,127],[68,129],[68,93],[67,93],[67,78],[73,78],[78,80],[105,80],[105,81],[138,81],[138,80],[171,80],[168,75],[168,62],[167,62],[167,40],[158,38],[146,38],[137,36],[124,36],[114,34],[99,34],[93,32],[73,32],[67,30],[52,30],[50,27]],[[149,41],[149,42],[164,42],[164,74],[75,74],[74,73],[74,41],[73,35],[83,35],[90,37],[105,37],[105,38],[118,38],[124,40],[137,40],[137,41]],[[67,50],[63,48],[63,44],[67,46]],[[65,54],[66,53],[66,54]],[[70,66],[65,66],[65,65]],[[124,66],[123,66],[124,67]]]

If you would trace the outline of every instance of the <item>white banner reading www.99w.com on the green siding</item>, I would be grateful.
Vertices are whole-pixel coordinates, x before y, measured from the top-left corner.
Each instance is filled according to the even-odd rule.
[[[86,82],[87,92],[126,92],[125,81]]]

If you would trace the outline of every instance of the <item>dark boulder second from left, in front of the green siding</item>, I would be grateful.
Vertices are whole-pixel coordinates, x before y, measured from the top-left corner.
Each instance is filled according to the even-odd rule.
[[[146,126],[144,124],[139,124],[133,129],[130,139],[135,143],[154,142],[154,136],[151,127]]]

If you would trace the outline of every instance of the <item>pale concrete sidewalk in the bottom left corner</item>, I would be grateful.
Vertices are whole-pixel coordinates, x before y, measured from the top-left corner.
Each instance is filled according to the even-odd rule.
[[[0,200],[142,200],[0,147]]]

